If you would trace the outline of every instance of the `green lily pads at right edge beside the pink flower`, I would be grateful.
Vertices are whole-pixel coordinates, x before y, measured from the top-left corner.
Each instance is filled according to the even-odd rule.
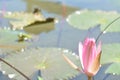
[[[120,44],[104,44],[102,46],[101,63],[112,63],[106,73],[120,75]]]

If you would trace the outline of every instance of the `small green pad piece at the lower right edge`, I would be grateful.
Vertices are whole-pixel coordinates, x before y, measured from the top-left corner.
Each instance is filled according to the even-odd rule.
[[[112,74],[117,74],[120,75],[120,63],[112,63],[108,69],[106,70],[105,73],[112,73]]]

